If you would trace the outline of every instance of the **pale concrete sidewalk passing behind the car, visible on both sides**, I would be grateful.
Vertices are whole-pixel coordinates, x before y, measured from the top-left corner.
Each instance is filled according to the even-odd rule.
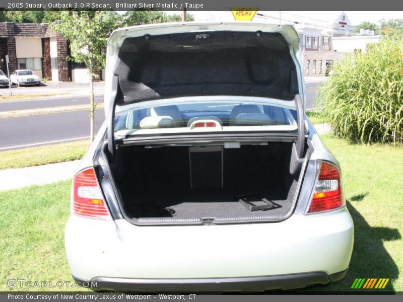
[[[319,134],[330,132],[328,124],[313,125]],[[73,177],[80,161],[49,164],[20,169],[0,170],[0,192],[33,185],[46,185]]]

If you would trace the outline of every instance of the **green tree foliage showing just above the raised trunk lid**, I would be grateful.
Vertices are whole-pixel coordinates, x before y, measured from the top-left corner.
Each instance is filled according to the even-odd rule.
[[[175,15],[167,15],[161,11],[145,11],[137,10],[127,12],[123,16],[124,26],[133,26],[139,24],[152,24],[152,23],[166,23],[166,22],[179,22],[182,17]],[[190,14],[186,14],[186,20],[193,21],[194,18]]]

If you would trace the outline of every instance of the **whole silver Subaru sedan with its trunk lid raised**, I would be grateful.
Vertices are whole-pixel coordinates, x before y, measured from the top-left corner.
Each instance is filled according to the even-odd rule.
[[[340,167],[304,114],[292,26],[112,33],[106,121],[74,177],[65,248],[97,290],[260,291],[343,278]]]

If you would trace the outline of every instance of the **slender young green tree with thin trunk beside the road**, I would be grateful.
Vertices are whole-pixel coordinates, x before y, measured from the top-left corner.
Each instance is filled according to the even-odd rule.
[[[72,56],[68,59],[85,63],[90,75],[90,140],[94,140],[94,79],[105,66],[106,43],[118,17],[114,12],[60,12],[59,22],[51,29],[70,42]]]

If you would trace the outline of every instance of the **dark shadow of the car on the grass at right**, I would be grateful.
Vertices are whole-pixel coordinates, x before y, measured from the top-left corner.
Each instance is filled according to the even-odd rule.
[[[367,193],[356,195],[352,200],[361,201]],[[371,227],[365,218],[347,201],[347,207],[354,221],[354,249],[350,268],[342,280],[327,285],[318,285],[302,291],[314,292],[354,292],[360,293],[386,293],[395,292],[392,280],[397,279],[399,270],[393,258],[383,246],[383,241],[401,239],[397,229]],[[384,289],[352,289],[356,278],[390,278]]]

